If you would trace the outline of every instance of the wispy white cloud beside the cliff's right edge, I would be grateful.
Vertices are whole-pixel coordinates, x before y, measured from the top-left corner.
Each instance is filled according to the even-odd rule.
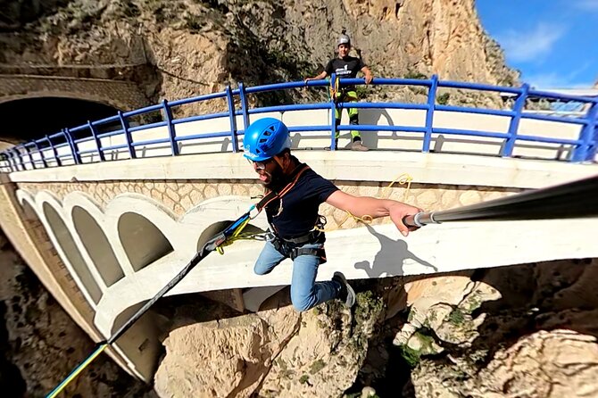
[[[598,1],[598,0],[596,0]],[[528,31],[507,30],[496,40],[512,62],[531,62],[552,51],[554,44],[563,36],[565,29],[559,25],[538,23]]]

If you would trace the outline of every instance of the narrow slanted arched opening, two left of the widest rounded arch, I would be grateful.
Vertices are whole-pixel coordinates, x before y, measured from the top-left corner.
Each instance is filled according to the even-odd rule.
[[[71,263],[73,270],[94,303],[99,303],[100,298],[102,298],[102,291],[100,290],[100,287],[97,286],[96,280],[91,275],[89,269],[87,269],[87,264],[83,260],[81,253],[79,253],[79,249],[77,248],[77,245],[75,245],[71,232],[69,232],[69,229],[66,227],[66,224],[64,224],[61,216],[51,205],[44,203],[43,210],[46,215],[46,220],[56,237],[56,241],[66,256],[65,260]]]

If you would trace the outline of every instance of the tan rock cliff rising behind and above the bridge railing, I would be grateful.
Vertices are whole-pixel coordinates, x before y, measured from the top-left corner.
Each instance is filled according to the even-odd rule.
[[[518,80],[482,29],[473,0],[3,3],[1,63],[149,64],[153,73],[109,77],[136,79],[154,103],[220,91],[238,81],[258,85],[313,76],[334,56],[336,37],[344,28],[353,37],[354,54],[361,54],[377,76],[436,73],[441,79],[503,85]],[[420,91],[372,89],[370,94],[421,101]],[[260,95],[252,101],[278,103],[305,96],[318,94]],[[485,103],[500,104],[496,97]],[[224,104],[209,106],[213,110]],[[199,105],[180,110],[201,111]]]

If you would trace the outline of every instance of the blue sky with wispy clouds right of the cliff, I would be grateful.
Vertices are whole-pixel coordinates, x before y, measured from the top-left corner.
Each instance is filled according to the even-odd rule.
[[[523,81],[575,88],[598,80],[598,0],[476,0],[476,7]]]

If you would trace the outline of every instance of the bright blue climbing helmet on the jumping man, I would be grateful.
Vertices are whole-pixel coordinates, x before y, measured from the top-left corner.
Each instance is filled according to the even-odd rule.
[[[290,147],[291,137],[287,126],[278,119],[255,120],[245,129],[243,156],[250,161],[266,161]]]

